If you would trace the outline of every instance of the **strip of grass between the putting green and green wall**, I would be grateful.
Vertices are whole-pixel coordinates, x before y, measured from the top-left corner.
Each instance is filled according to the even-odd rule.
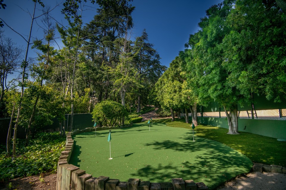
[[[157,119],[158,123],[167,126],[191,129],[191,124],[186,124],[185,119]],[[286,142],[275,138],[265,137],[258,134],[240,132],[238,135],[226,134],[229,130],[214,126],[198,125],[195,128],[197,136],[216,140],[243,153],[254,163],[275,164],[286,166]]]

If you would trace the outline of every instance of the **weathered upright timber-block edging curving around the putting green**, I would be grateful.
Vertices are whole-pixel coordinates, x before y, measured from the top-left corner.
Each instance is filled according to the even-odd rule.
[[[120,129],[132,125],[97,127],[96,130]],[[69,164],[69,159],[74,146],[74,140],[71,136],[93,131],[95,128],[86,128],[66,134],[66,148],[62,151],[57,163],[56,190],[208,190],[203,182],[195,183],[193,180],[183,180],[183,178],[174,178],[172,183],[150,183],[150,181],[140,181],[134,178],[130,178],[128,182],[121,182],[118,179],[110,179],[105,176],[92,177],[79,167]]]

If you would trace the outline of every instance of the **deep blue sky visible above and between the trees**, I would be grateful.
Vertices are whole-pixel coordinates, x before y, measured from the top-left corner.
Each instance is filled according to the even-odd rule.
[[[132,13],[134,27],[132,30],[133,39],[141,36],[143,29],[146,29],[149,36],[149,42],[154,44],[154,48],[161,57],[161,64],[169,66],[170,62],[178,55],[178,52],[184,50],[184,44],[188,41],[189,34],[198,31],[198,22],[200,18],[206,15],[206,9],[222,0],[178,0],[178,1],[159,1],[159,0],[134,0],[131,2],[135,6]],[[43,0],[46,6],[53,8],[57,2],[63,1]],[[13,29],[18,31],[24,37],[29,34],[30,16],[25,11],[32,12],[32,0],[4,0],[6,9],[0,9],[0,18],[2,18]],[[83,21],[88,23],[96,14],[97,5],[86,4],[86,10],[83,11]],[[41,7],[38,5],[38,9]],[[64,15],[60,13],[62,6],[55,8],[52,16],[60,23],[66,23]],[[24,11],[25,10],[25,11]],[[36,15],[40,15],[37,10]],[[37,19],[32,31],[33,37],[41,39],[43,37],[41,18]],[[66,25],[66,24],[65,24]],[[22,37],[4,26],[6,37],[10,37],[19,46],[26,48],[26,43]],[[27,37],[26,37],[27,38]],[[60,41],[60,40],[59,40]],[[29,50],[29,56],[35,57],[34,50]]]

